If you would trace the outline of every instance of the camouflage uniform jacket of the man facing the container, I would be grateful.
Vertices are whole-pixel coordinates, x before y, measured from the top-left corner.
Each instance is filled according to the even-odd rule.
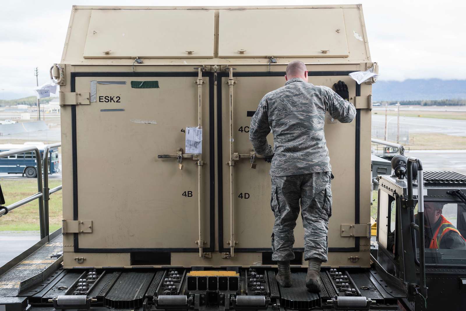
[[[331,171],[324,135],[326,111],[343,123],[353,121],[356,108],[331,88],[293,78],[267,93],[251,119],[249,140],[256,153],[272,156],[271,176]],[[272,130],[274,148],[267,135]]]

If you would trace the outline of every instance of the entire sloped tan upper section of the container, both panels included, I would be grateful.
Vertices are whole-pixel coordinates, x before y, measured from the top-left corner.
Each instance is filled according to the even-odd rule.
[[[267,64],[268,56],[370,62],[362,6],[73,6],[61,61],[191,66]]]

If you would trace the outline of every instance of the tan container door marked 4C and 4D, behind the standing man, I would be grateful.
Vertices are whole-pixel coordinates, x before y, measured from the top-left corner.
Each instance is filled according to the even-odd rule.
[[[257,76],[257,75],[266,76]],[[318,74],[325,74],[319,72]],[[268,92],[284,85],[284,73],[236,73],[233,72],[234,80],[238,83],[233,86],[233,140],[234,153],[247,155],[250,153],[252,144],[249,142],[249,126],[251,117],[254,115],[262,97]],[[226,85],[228,77],[223,77],[221,90],[222,119],[222,160],[229,161],[229,89]],[[332,87],[338,80],[345,81],[349,87],[349,96],[355,96],[356,85],[347,74],[342,76],[310,76],[309,82],[315,85]],[[333,121],[327,115],[325,124],[325,137],[329,148],[331,165],[335,179],[332,181],[333,211],[329,223],[329,249],[350,250],[354,249],[354,241],[348,244],[347,238],[340,236],[340,225],[342,223],[354,223],[356,214],[355,180],[356,172],[356,121],[342,124]],[[273,144],[273,136],[269,134],[268,142]],[[345,150],[345,152],[342,152]],[[270,207],[271,178],[268,174],[270,164],[263,159],[255,159],[256,169],[251,169],[249,158],[240,158],[235,161],[233,167],[233,204],[234,204],[234,234],[238,244],[235,252],[271,250],[271,234],[274,224],[274,215]],[[223,234],[220,241],[223,251],[230,250],[230,174],[229,167],[223,168],[223,186],[219,185],[223,200],[219,203],[220,212],[223,213]],[[223,188],[223,189],[222,189]],[[358,207],[357,207],[358,208]],[[298,217],[296,222],[295,249],[302,250],[303,228],[302,219]],[[222,231],[220,231],[222,232]]]

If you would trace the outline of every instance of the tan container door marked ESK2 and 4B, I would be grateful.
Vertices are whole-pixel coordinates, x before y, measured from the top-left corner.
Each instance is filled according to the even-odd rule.
[[[185,154],[186,127],[198,126],[197,74],[75,77],[75,91],[90,92],[91,102],[72,107],[74,214],[93,226],[92,233],[77,234],[75,251],[198,251],[198,165],[192,158],[183,157],[182,163],[177,158]],[[203,79],[200,202],[207,248],[213,121],[209,77]]]

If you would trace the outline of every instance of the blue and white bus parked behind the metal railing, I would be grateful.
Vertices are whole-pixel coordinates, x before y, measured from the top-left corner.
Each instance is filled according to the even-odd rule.
[[[0,144],[0,152],[12,149],[21,149],[35,146],[41,152],[41,158],[44,156],[45,146],[41,142],[25,142],[20,144]],[[60,161],[58,159],[58,147],[52,148],[48,153],[48,168],[49,174],[58,173],[60,171]],[[36,177],[37,176],[37,161],[35,152],[29,151],[18,155],[7,156],[0,158],[0,173],[22,174],[22,176]]]

